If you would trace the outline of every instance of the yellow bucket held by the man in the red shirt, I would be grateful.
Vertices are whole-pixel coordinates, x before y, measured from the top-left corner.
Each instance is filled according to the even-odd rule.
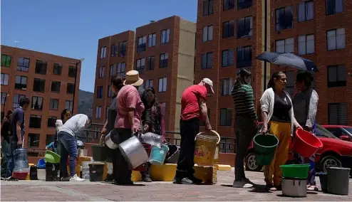
[[[195,164],[213,166],[215,151],[219,142],[220,136],[214,130],[197,134],[195,137]]]

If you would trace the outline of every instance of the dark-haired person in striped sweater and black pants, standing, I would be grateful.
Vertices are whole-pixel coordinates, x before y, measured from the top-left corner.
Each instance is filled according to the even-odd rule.
[[[234,131],[237,149],[234,170],[234,184],[237,188],[251,188],[252,182],[244,174],[244,157],[254,135],[257,133],[258,117],[254,107],[252,86],[247,80],[251,73],[245,69],[239,70],[231,95],[234,99]]]

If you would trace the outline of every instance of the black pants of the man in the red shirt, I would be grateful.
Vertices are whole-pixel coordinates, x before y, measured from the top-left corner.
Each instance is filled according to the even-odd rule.
[[[200,120],[193,118],[187,121],[180,119],[180,156],[177,161],[176,178],[192,176],[195,173],[195,137],[200,132]]]

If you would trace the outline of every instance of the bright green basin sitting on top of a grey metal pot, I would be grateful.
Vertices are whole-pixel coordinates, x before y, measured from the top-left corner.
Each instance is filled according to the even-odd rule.
[[[291,164],[280,166],[282,176],[287,179],[307,179],[309,172],[309,164]]]

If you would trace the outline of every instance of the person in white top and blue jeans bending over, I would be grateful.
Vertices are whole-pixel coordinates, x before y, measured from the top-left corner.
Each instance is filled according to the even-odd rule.
[[[58,142],[60,142],[59,145],[61,147],[60,170],[62,171],[63,176],[67,175],[66,162],[68,155],[70,155],[70,181],[84,181],[84,179],[81,179],[76,174],[78,149],[75,136],[89,127],[89,125],[90,120],[88,119],[88,116],[78,114],[68,119],[58,132]]]

